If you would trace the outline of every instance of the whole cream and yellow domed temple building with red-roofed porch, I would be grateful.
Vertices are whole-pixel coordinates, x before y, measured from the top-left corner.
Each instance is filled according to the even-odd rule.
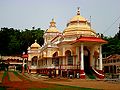
[[[63,32],[52,19],[44,33],[44,45],[35,40],[28,47],[29,72],[81,79],[95,75],[102,79],[102,44],[105,43],[78,9]]]

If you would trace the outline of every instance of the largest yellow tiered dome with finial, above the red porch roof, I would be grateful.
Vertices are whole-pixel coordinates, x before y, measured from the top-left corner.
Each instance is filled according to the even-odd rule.
[[[78,8],[77,15],[70,19],[67,23],[67,27],[63,31],[63,35],[74,35],[80,34],[85,36],[96,36],[96,32],[91,29],[90,22],[86,18],[80,15],[80,10]]]

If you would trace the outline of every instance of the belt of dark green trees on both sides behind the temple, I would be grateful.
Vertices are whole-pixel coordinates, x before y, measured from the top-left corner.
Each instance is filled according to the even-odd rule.
[[[21,55],[26,52],[28,46],[37,40],[42,46],[44,30],[40,28],[32,30],[17,30],[14,28],[1,28],[0,30],[0,54],[1,55]],[[103,45],[103,56],[120,54],[120,30],[114,37],[104,37],[108,44]]]

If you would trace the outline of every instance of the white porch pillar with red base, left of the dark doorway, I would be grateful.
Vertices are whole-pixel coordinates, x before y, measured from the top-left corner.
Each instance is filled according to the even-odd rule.
[[[81,44],[81,66],[80,66],[80,78],[85,79],[85,72],[84,72],[84,49],[83,43]]]

